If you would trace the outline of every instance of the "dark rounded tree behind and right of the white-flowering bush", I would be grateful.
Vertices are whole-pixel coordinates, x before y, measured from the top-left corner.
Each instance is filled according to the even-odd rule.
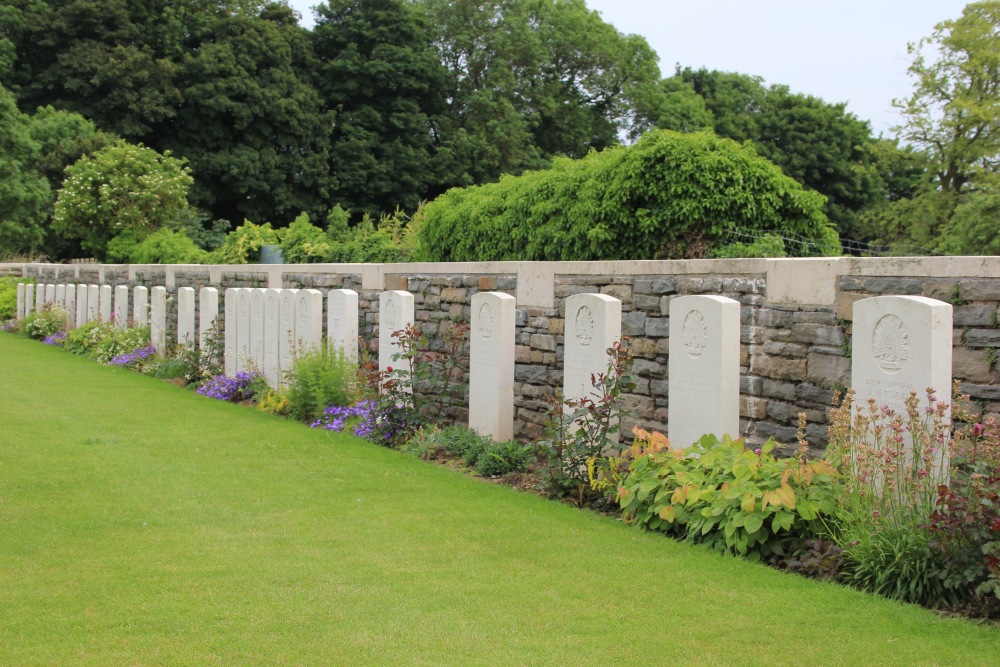
[[[308,35],[281,4],[222,17],[185,55],[185,103],[162,146],[190,161],[194,203],[226,220],[324,212],[331,118],[312,66]]]

